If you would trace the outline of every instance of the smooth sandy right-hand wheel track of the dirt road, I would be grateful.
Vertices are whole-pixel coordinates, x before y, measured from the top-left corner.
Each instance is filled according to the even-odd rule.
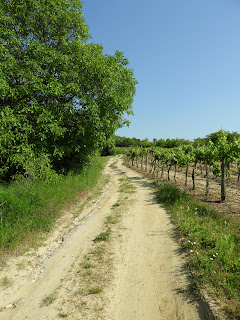
[[[185,256],[153,184],[121,167],[136,185],[136,202],[125,215],[127,234],[117,254],[106,319],[209,319],[191,297]]]

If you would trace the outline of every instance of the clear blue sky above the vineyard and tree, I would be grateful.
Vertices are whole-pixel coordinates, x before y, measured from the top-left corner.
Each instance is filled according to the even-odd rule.
[[[122,51],[138,80],[116,134],[195,139],[240,133],[239,0],[83,0],[92,42]]]

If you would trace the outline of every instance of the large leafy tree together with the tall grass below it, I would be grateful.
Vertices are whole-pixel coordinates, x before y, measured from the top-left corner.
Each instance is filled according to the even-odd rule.
[[[0,251],[49,231],[96,184],[94,157],[132,114],[129,62],[89,42],[82,7],[0,2]]]

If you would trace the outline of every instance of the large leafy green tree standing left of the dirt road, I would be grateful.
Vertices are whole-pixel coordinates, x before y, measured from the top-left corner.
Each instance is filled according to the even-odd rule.
[[[79,0],[0,3],[0,174],[84,162],[127,121],[136,80],[89,43]],[[37,169],[36,169],[37,170]],[[35,170],[35,171],[36,171]],[[33,172],[34,170],[32,170]],[[37,172],[35,172],[37,174]]]

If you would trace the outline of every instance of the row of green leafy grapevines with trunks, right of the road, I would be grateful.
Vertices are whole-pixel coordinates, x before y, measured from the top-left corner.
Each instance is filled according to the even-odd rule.
[[[226,175],[230,174],[230,165],[235,163],[238,174],[237,181],[240,180],[240,138],[229,142],[227,133],[220,130],[217,139],[213,142],[209,140],[206,145],[193,147],[192,145],[180,146],[177,148],[143,148],[135,147],[128,149],[125,154],[125,161],[137,167],[141,164],[142,170],[152,172],[154,175],[163,178],[164,169],[167,169],[168,180],[170,180],[170,170],[174,168],[174,181],[178,168],[185,168],[185,185],[187,185],[189,166],[192,164],[193,190],[195,185],[195,173],[197,165],[206,170],[206,195],[209,194],[209,173],[210,170],[216,177],[221,177],[221,201],[226,199]],[[145,168],[144,168],[145,167]]]

